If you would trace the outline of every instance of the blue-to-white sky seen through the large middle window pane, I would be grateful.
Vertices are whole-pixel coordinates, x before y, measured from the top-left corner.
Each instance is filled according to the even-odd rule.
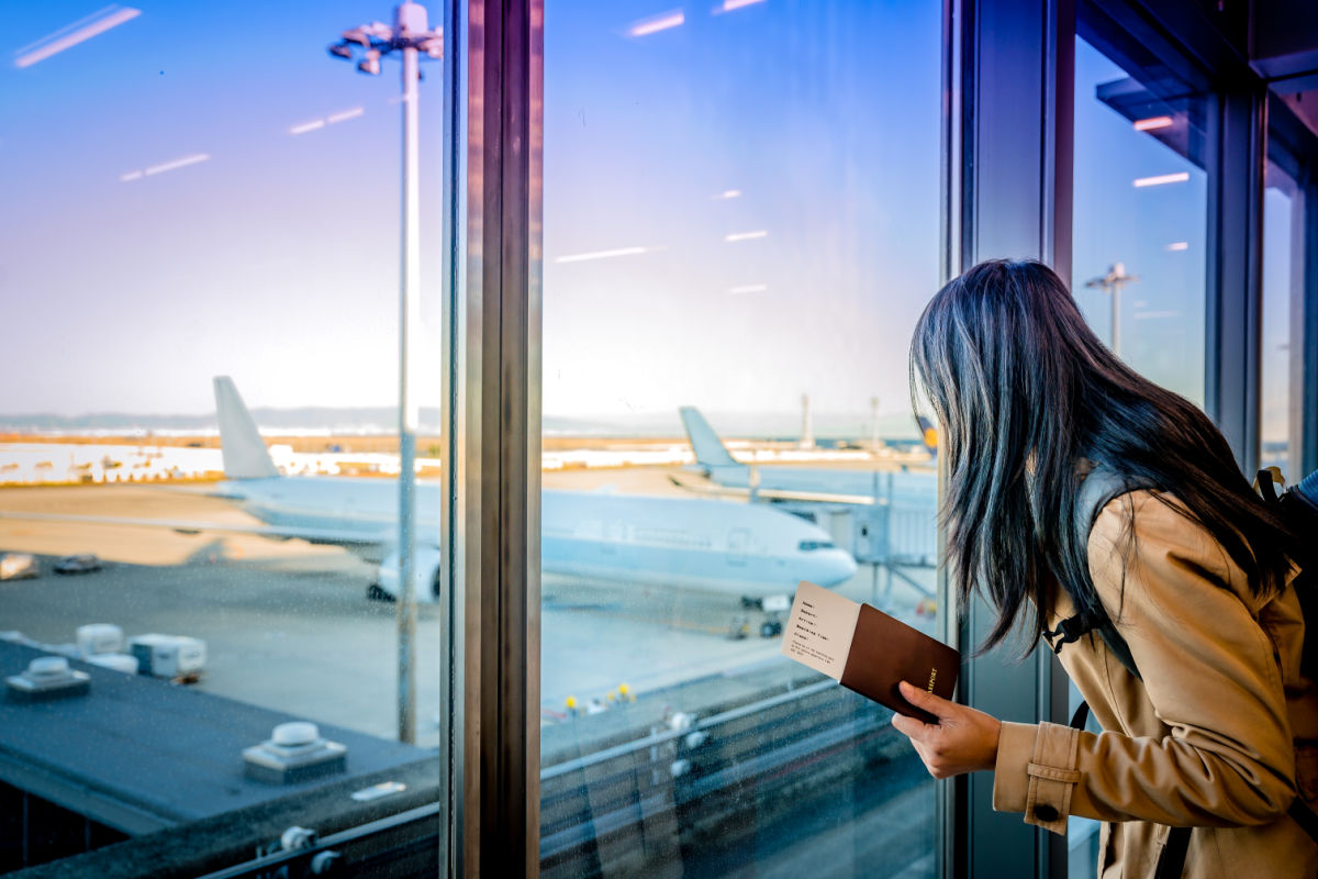
[[[548,18],[546,411],[904,411],[938,282],[937,4],[688,5],[619,37],[651,12]]]

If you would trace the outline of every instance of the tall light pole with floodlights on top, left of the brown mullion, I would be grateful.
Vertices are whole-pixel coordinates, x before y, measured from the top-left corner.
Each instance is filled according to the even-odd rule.
[[[411,391],[411,324],[420,297],[420,182],[418,158],[418,53],[442,58],[444,40],[427,29],[426,7],[403,3],[394,9],[394,26],[380,21],[343,32],[330,54],[352,61],[352,47],[365,57],[357,70],[380,75],[380,59],[391,51],[403,57],[403,211],[402,271],[398,295],[398,741],[416,741],[416,422]]]

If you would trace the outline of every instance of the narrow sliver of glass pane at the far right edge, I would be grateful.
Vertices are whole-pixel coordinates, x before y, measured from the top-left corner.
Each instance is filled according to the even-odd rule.
[[[1263,192],[1263,351],[1259,399],[1260,467],[1300,480],[1304,381],[1304,198],[1296,182],[1268,162]]]

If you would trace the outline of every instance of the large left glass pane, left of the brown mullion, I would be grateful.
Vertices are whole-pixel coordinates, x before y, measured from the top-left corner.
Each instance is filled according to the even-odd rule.
[[[378,76],[326,53],[366,59],[341,37],[374,14],[358,42],[378,43],[387,5],[95,9],[9,4],[0,67],[0,872],[173,838],[159,870],[198,875],[278,849],[248,836],[273,821],[324,836],[436,800],[438,488],[414,742],[395,605],[368,598],[398,592],[402,51]],[[432,405],[444,90],[424,62]],[[438,430],[423,410],[423,477]]]

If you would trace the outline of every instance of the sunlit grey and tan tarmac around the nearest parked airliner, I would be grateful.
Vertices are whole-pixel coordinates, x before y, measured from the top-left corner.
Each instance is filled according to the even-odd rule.
[[[555,482],[571,482],[556,474]],[[655,473],[625,488],[666,492]],[[568,477],[568,478],[563,478]],[[590,474],[598,482],[598,474]],[[585,486],[583,486],[585,488]],[[598,488],[593,485],[590,488]],[[208,488],[61,486],[0,489],[0,510],[179,521],[253,522]],[[676,492],[670,485],[668,492]],[[365,598],[374,568],[349,552],[302,540],[186,535],[138,526],[0,519],[0,552],[42,559],[36,580],[0,582],[0,631],[70,643],[83,623],[109,622],[125,637],[191,635],[207,642],[198,689],[301,714],[362,733],[397,735],[397,623],[393,605]],[[94,552],[99,572],[61,576],[53,559]],[[862,571],[842,592],[867,600]],[[912,593],[913,594],[913,593]],[[580,582],[542,584],[542,706],[554,722],[568,697],[608,704],[621,684],[633,692],[730,673],[780,656],[779,639],[731,640],[745,611],[733,596]],[[418,621],[418,741],[438,746],[439,613]]]

